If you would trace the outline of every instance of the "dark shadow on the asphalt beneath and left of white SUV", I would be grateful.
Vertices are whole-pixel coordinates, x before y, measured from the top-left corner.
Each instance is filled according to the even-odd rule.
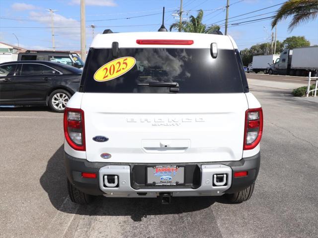
[[[159,204],[158,198],[106,198],[98,196],[89,205],[74,204],[67,199],[66,174],[64,168],[63,145],[48,161],[40,184],[48,193],[52,205],[59,211],[89,216],[130,216],[133,221],[141,221],[148,215],[181,214],[206,209],[215,202],[228,203],[224,197],[173,197],[168,205]],[[68,201],[68,202],[66,202]]]

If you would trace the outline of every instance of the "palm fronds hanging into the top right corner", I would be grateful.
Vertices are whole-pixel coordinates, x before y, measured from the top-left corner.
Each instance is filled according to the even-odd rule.
[[[318,0],[288,0],[277,11],[272,21],[272,28],[278,21],[294,15],[288,29],[292,31],[296,26],[318,16]]]

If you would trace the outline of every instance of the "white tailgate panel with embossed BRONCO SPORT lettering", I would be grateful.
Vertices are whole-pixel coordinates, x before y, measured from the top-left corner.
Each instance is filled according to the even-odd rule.
[[[116,163],[240,160],[247,108],[244,93],[84,93],[86,157]]]

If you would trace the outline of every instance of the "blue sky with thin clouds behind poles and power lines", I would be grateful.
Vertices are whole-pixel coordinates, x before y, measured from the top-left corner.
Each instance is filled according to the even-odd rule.
[[[230,4],[235,4],[229,8],[229,17],[284,1],[230,0]],[[196,15],[197,10],[203,9],[204,23],[218,22],[224,25],[225,5],[226,0],[183,0],[183,17]],[[95,26],[95,34],[107,28],[114,32],[157,31],[161,25],[162,6],[166,8],[165,26],[168,28],[171,23],[177,21],[172,14],[179,9],[180,0],[86,0],[87,48],[92,40],[90,25]],[[46,11],[48,8],[58,10],[54,13],[56,50],[80,50],[79,0],[0,0],[0,41],[17,45],[14,33],[19,39],[20,47],[52,49],[51,18],[50,13]],[[236,40],[240,50],[266,42],[271,32],[271,19],[252,24],[231,24],[272,16],[273,11],[278,8],[279,5],[229,20],[229,35]],[[129,17],[134,18],[122,19]],[[246,17],[250,18],[242,19]],[[305,36],[312,45],[318,44],[318,19],[302,24],[292,32],[287,29],[289,21],[290,18],[277,25],[278,40],[282,41],[295,35]],[[223,26],[221,31],[224,32]]]

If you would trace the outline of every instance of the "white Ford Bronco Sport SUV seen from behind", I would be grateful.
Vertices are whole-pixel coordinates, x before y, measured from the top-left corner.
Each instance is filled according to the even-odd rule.
[[[99,34],[64,114],[72,201],[250,198],[263,115],[229,36]]]

